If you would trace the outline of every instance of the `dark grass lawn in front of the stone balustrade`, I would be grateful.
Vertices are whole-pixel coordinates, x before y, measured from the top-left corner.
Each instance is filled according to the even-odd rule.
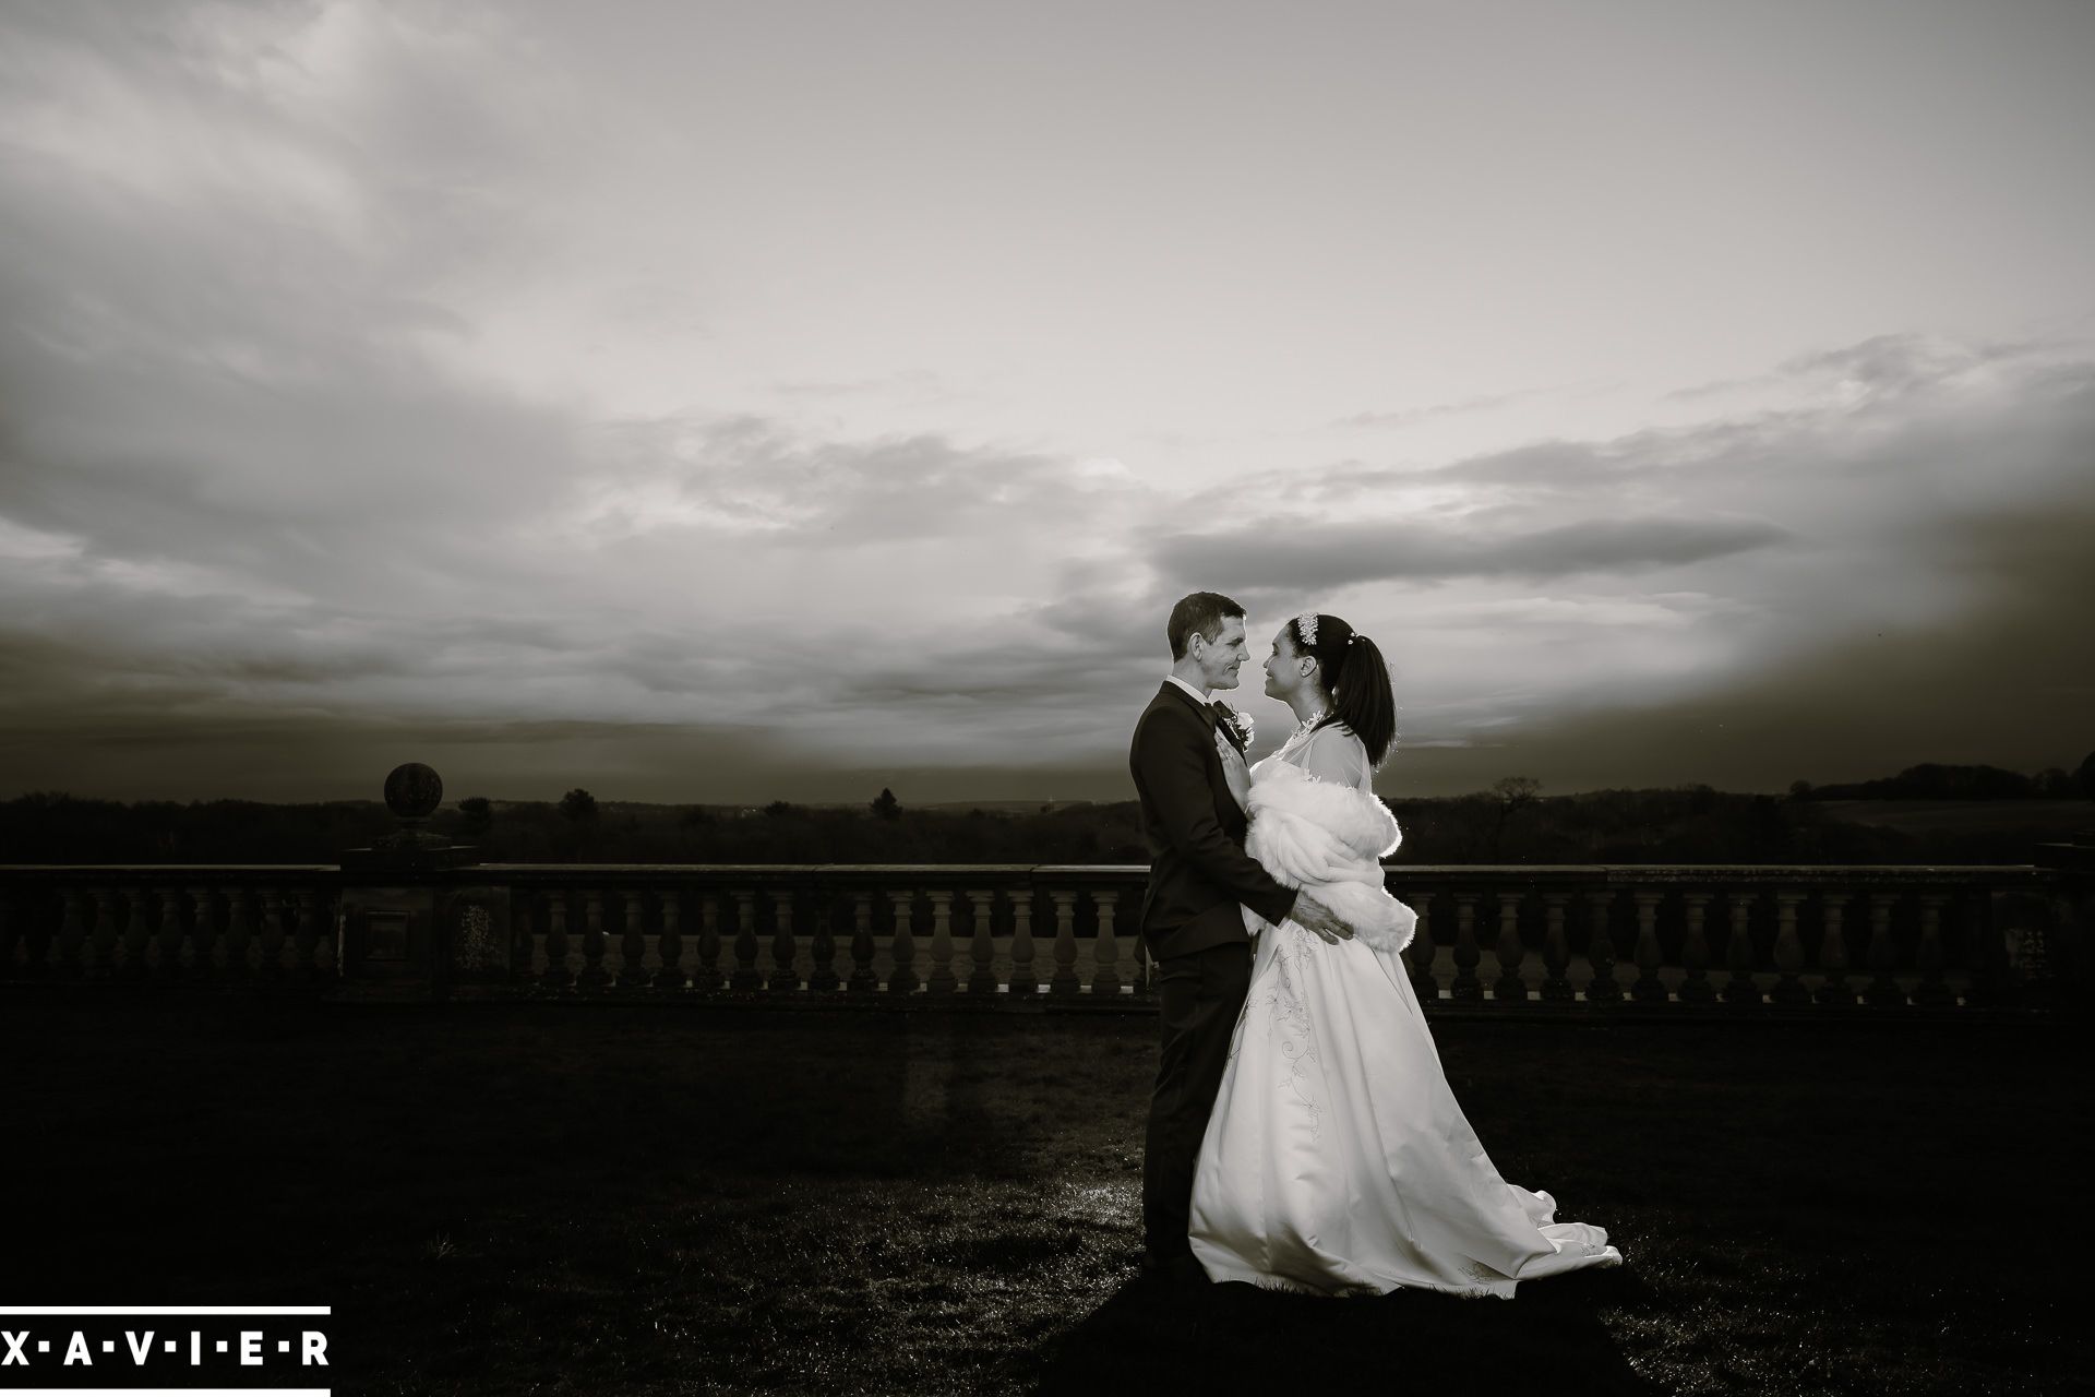
[[[1146,1016],[0,999],[0,1301],[333,1305],[337,1393],[2087,1391],[2064,1028],[1437,1024],[1628,1257],[1138,1282]],[[1343,1384],[1343,1387],[1341,1387]]]

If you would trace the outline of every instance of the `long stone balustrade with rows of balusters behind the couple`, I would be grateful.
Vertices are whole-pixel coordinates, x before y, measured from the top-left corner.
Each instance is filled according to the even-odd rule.
[[[371,997],[1133,1005],[1127,865],[6,867],[0,978]],[[2051,1003],[2036,867],[1393,867],[1435,1012]]]

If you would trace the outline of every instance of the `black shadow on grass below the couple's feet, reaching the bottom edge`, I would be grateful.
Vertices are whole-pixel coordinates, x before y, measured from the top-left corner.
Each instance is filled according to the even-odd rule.
[[[1041,1397],[1194,1393],[1661,1393],[1601,1317],[1649,1296],[1609,1269],[1521,1286],[1515,1301],[1399,1290],[1370,1301],[1244,1284],[1198,1292],[1131,1282],[1043,1355]]]

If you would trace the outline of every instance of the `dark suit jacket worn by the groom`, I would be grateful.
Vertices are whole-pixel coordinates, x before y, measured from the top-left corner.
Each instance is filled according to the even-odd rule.
[[[1274,924],[1288,915],[1295,890],[1244,852],[1249,821],[1221,775],[1213,710],[1165,683],[1135,723],[1127,769],[1150,846],[1142,940],[1152,957],[1249,940],[1240,905]]]

